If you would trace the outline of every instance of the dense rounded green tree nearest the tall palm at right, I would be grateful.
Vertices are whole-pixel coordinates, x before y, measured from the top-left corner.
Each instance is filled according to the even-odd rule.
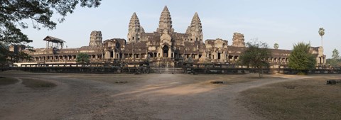
[[[293,51],[289,56],[288,66],[291,69],[298,70],[299,74],[314,69],[316,65],[315,57],[309,52],[310,44],[298,43],[293,45]]]

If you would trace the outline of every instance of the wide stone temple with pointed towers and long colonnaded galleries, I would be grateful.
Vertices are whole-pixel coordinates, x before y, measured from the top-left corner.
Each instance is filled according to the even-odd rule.
[[[21,62],[72,63],[79,53],[86,53],[90,55],[90,62],[93,63],[150,60],[154,65],[176,66],[190,60],[195,63],[234,65],[245,50],[242,33],[233,33],[231,45],[228,40],[220,38],[207,39],[204,42],[198,13],[194,13],[185,33],[175,32],[167,6],[161,13],[158,28],[152,33],[144,31],[138,16],[133,13],[129,22],[127,40],[112,38],[102,41],[101,31],[92,31],[89,45],[80,48],[63,48],[65,41],[52,36],[47,36],[43,40],[46,40],[46,48],[36,48],[34,52],[23,50],[31,55],[31,59],[21,60]],[[11,46],[13,51],[18,48],[20,47]],[[271,49],[271,51],[273,55],[269,58],[270,67],[278,68],[287,65],[291,50]],[[310,52],[316,56],[318,65],[325,64],[322,47],[312,47]]]

